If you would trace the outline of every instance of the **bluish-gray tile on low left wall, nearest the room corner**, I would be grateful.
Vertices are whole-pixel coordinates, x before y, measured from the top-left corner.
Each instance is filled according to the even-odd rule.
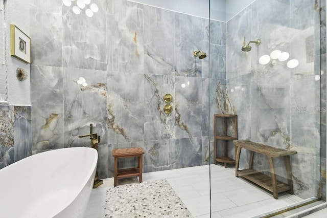
[[[14,106],[14,151],[15,162],[32,155],[32,108]]]

